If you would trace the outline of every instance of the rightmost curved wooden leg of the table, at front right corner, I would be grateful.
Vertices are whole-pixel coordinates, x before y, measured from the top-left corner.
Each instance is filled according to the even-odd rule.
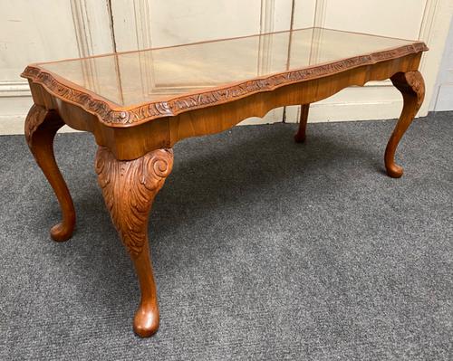
[[[400,120],[398,120],[385,149],[384,158],[387,174],[393,178],[399,178],[402,176],[403,170],[402,167],[395,164],[395,151],[425,99],[425,81],[419,71],[409,71],[397,72],[391,77],[391,82],[400,90],[404,105]]]

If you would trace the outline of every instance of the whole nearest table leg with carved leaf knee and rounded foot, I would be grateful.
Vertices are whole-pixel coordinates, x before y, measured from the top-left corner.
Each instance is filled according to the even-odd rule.
[[[149,259],[148,215],[173,166],[173,150],[157,149],[134,160],[117,160],[106,147],[96,154],[105,204],[139,277],[141,299],[134,331],[149,337],[159,328],[156,285]]]

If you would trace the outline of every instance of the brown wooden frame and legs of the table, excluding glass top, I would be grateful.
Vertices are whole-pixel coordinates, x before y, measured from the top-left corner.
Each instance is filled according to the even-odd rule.
[[[263,117],[271,109],[300,104],[301,122],[294,139],[304,141],[311,103],[352,85],[391,79],[402,93],[404,106],[386,148],[385,166],[389,176],[401,176],[394,155],[424,98],[418,68],[425,50],[424,43],[416,42],[130,108],[121,108],[39,66],[27,67],[23,75],[29,79],[35,105],[25,122],[25,138],[63,211],[63,222],[53,227],[53,238],[69,238],[75,223],[71,195],[53,157],[53,137],[66,123],[91,132],[100,146],[95,161],[99,184],[140,281],[134,330],[141,337],[152,335],[159,328],[159,306],[149,257],[148,218],[172,169],[171,147],[184,138]]]

